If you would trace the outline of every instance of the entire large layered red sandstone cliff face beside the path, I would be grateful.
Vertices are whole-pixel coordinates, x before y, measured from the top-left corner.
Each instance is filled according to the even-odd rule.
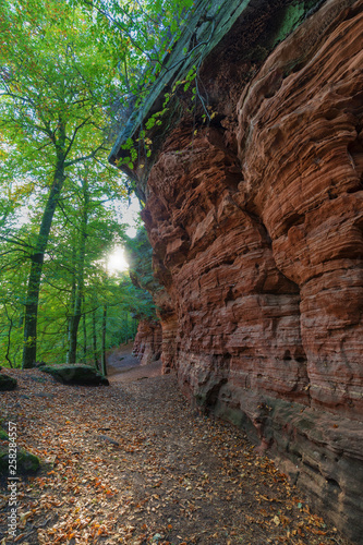
[[[171,124],[142,187],[164,367],[363,543],[363,3],[258,61],[262,5],[204,61],[214,119]]]

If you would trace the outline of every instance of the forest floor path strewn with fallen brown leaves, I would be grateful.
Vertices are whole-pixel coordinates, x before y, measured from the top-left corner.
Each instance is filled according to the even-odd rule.
[[[109,356],[111,386],[5,370],[0,417],[43,460],[17,482],[17,536],[0,483],[0,544],[347,545],[243,433],[193,410],[173,375]]]

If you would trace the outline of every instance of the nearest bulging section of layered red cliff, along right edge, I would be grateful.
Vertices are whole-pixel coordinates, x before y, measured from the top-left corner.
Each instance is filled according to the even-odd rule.
[[[358,2],[334,23],[337,4],[328,2],[277,48],[244,89],[237,202],[261,218],[278,269],[299,286],[311,407],[356,417],[363,414],[363,15]],[[330,23],[326,33],[322,20]],[[282,77],[316,37],[312,57]]]

